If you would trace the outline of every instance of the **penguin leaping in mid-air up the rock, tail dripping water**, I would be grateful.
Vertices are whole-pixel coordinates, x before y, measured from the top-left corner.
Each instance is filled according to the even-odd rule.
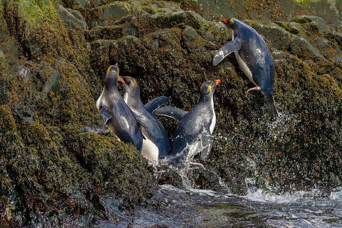
[[[257,31],[235,18],[222,19],[222,22],[232,31],[232,41],[223,45],[216,52],[213,65],[216,66],[227,55],[234,52],[242,72],[255,85],[247,90],[247,94],[252,90],[261,90],[266,97],[272,117],[278,117],[273,97],[274,61],[265,41]]]

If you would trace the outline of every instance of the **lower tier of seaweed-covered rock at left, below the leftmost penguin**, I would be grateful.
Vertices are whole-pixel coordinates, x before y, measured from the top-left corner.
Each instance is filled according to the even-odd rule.
[[[87,192],[125,195],[124,206],[133,207],[150,187],[144,159],[114,135],[80,133],[74,125],[44,127],[25,120],[18,125],[8,106],[0,107],[0,126],[4,152],[0,164],[14,181],[16,194],[25,199],[15,210],[63,207],[74,213],[84,210],[87,202],[78,202],[79,208],[68,208],[65,203],[70,197],[76,201],[86,198]],[[76,192],[71,194],[70,188]]]

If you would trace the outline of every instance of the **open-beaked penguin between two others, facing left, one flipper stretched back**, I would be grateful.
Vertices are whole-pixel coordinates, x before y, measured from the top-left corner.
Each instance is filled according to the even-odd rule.
[[[127,106],[135,114],[139,122],[143,123],[143,147],[141,155],[146,157],[149,161],[156,161],[165,158],[170,152],[170,140],[167,132],[159,120],[152,114],[157,106],[166,103],[169,98],[156,98],[151,103],[148,103],[146,109],[140,100],[140,88],[137,81],[132,77],[119,77],[119,84],[124,89],[123,100]]]

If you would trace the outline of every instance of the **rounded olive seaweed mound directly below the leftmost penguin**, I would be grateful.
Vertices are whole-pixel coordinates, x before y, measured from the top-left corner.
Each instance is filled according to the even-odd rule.
[[[77,159],[91,174],[102,193],[129,196],[128,206],[141,202],[149,189],[146,162],[132,145],[124,145],[114,135],[100,136],[67,126],[67,142]]]

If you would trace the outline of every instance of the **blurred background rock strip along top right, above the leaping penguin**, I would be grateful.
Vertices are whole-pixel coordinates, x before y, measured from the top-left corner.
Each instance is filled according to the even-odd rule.
[[[337,1],[296,1],[296,0],[258,0],[228,3],[224,0],[197,0],[201,5],[201,15],[207,20],[220,18],[240,18],[269,23],[272,21],[312,23],[327,26],[329,29],[341,30],[341,4]],[[320,20],[329,22],[321,23]]]

